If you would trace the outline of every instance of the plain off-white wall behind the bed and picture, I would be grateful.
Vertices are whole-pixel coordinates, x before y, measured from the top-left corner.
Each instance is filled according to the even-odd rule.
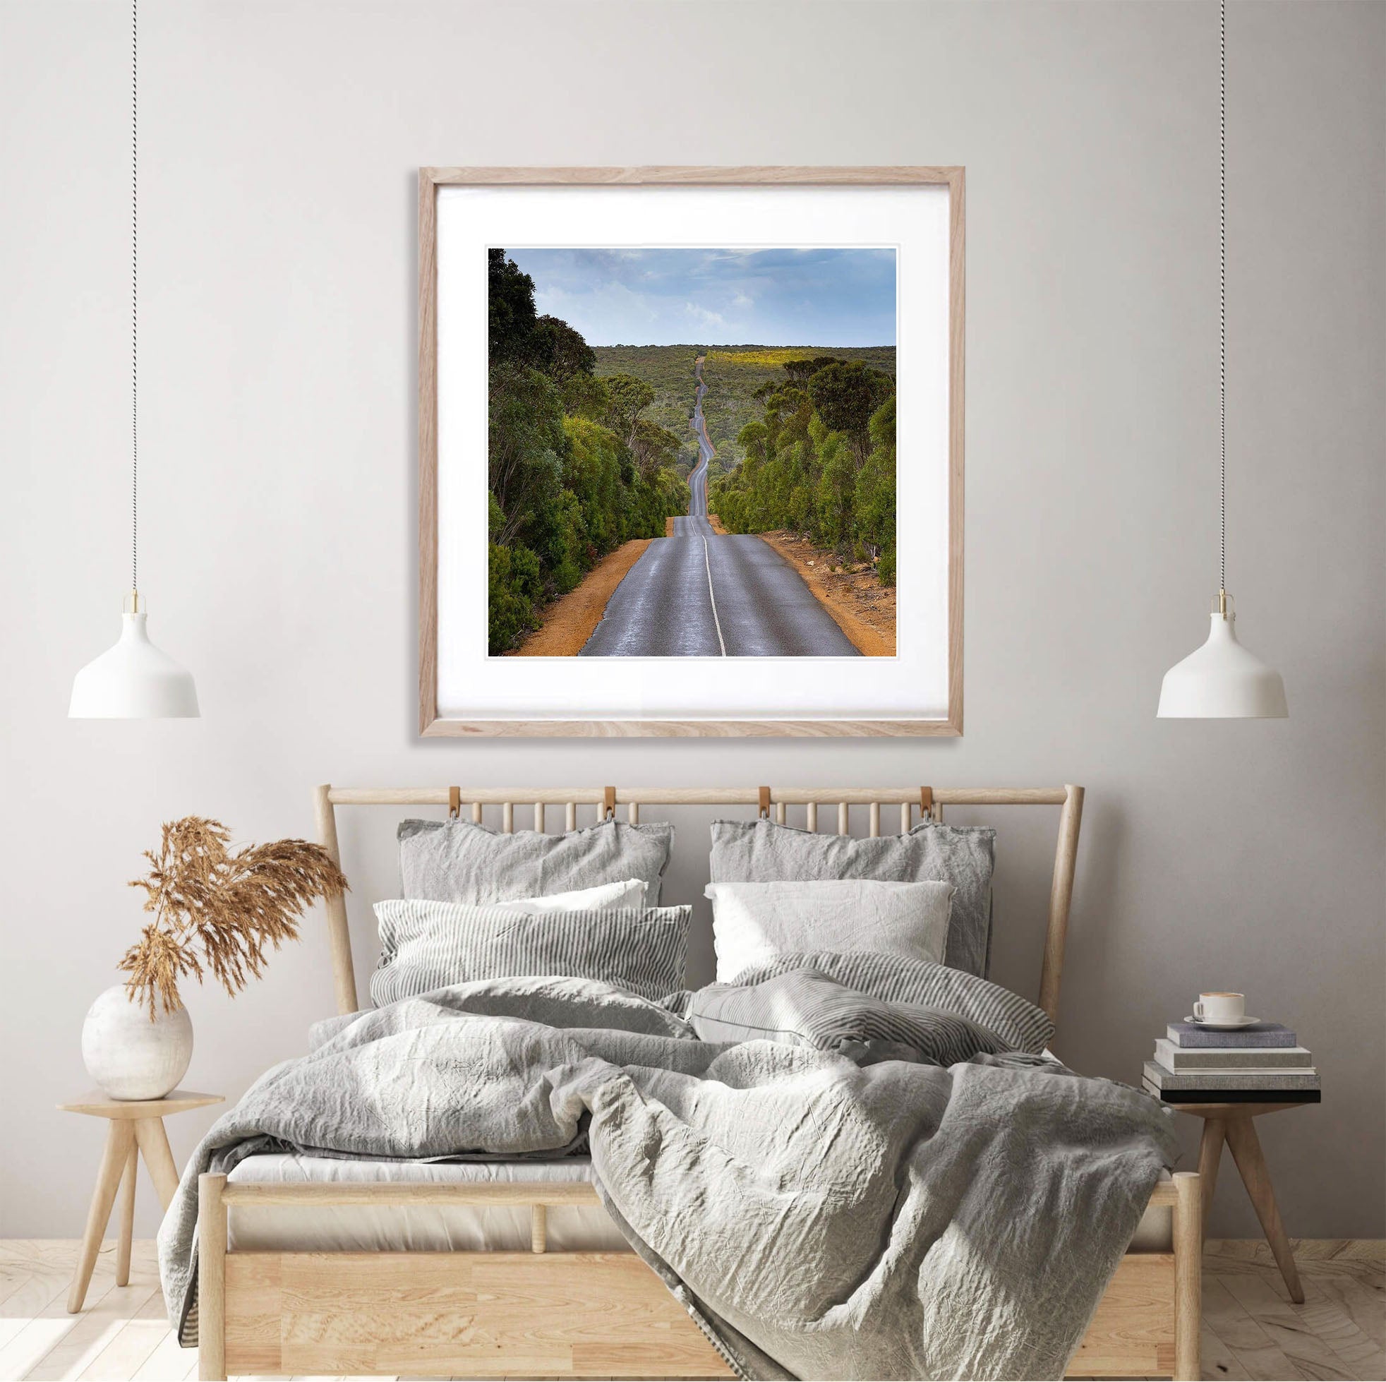
[[[69,722],[128,579],[128,21],[0,3],[0,1232],[80,1231],[98,1128],[53,1106],[159,822],[310,833],[326,780],[1084,783],[1062,1053],[1137,1080],[1245,988],[1324,1070],[1263,1127],[1290,1232],[1386,1232],[1380,4],[1232,6],[1228,579],[1293,718],[1221,725],[1153,718],[1217,577],[1213,6],[326,0],[143,6],[140,585],[205,718]],[[416,737],[414,169],[468,162],[967,166],[962,740]],[[997,823],[1030,986],[1049,843]],[[358,908],[388,834],[345,823]],[[306,930],[188,995],[190,1085],[302,1049]],[[1229,1169],[1213,1230],[1256,1231]]]

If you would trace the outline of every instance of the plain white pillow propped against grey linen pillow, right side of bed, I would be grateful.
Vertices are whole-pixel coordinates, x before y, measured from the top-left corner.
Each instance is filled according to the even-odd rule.
[[[717,981],[793,951],[870,950],[942,963],[951,883],[708,883]]]

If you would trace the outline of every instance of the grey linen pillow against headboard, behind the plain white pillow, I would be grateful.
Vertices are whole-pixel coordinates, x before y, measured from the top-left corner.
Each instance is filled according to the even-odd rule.
[[[854,840],[815,834],[773,821],[714,821],[714,883],[808,879],[879,879],[886,883],[952,883],[952,915],[944,963],[985,974],[991,952],[991,826],[920,822],[908,834]],[[845,947],[848,937],[843,937]]]

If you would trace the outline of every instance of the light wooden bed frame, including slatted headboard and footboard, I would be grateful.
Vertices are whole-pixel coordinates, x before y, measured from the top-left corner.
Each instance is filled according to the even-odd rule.
[[[866,807],[880,833],[881,808],[897,807],[900,829],[913,812],[942,819],[944,807],[1059,807],[1059,843],[1049,894],[1049,925],[1040,1006],[1059,1009],[1059,979],[1073,897],[1082,787],[1056,789],[385,789],[319,787],[319,837],[341,862],[337,807],[499,807],[505,830],[514,808],[563,807],[575,829],[578,807],[597,819],[617,805],[639,821],[642,807],[753,807],[786,819],[805,807],[809,830],[819,807],[837,807],[837,832],[848,833],[852,807]],[[338,1012],[356,1012],[346,904],[327,905]],[[726,1378],[721,1354],[635,1253],[545,1250],[550,1205],[595,1205],[588,1184],[486,1185],[229,1185],[225,1175],[198,1184],[198,1375],[363,1375],[509,1378]],[[1070,1364],[1070,1376],[1200,1375],[1199,1331],[1203,1205],[1199,1178],[1177,1173],[1161,1181],[1152,1205],[1173,1213],[1171,1252],[1130,1252]],[[524,1205],[531,1212],[532,1252],[227,1252],[227,1207],[292,1205]]]

